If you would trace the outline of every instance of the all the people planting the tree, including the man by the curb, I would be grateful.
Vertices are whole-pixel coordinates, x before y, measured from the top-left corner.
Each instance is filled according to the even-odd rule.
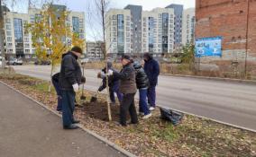
[[[64,129],[76,129],[79,123],[73,116],[75,109],[75,96],[79,90],[79,85],[86,82],[82,76],[78,57],[82,55],[82,49],[73,47],[62,56],[60,72],[52,77],[52,83],[58,94],[57,110],[62,112],[62,122]],[[138,123],[137,112],[134,103],[134,96],[137,89],[140,92],[139,112],[142,118],[150,118],[151,110],[156,106],[156,85],[160,74],[160,66],[150,54],[143,56],[144,64],[133,62],[133,58],[123,55],[121,64],[123,68],[120,72],[114,70],[111,62],[108,62],[105,69],[98,74],[103,79],[102,85],[98,88],[101,92],[106,87],[106,77],[109,85],[110,100],[115,103],[114,93],[120,103],[119,124],[127,126],[126,115],[130,113],[131,124]],[[148,105],[149,104],[149,105]]]

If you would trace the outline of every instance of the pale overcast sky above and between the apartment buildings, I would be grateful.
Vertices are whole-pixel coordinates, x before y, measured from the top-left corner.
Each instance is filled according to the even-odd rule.
[[[11,0],[7,0],[11,1]],[[32,3],[40,4],[40,0],[31,0]],[[110,0],[110,8],[119,8],[123,9],[127,4],[137,4],[142,5],[143,10],[151,10],[156,7],[165,7],[169,4],[183,4],[184,8],[195,7],[196,0]],[[11,4],[8,3],[10,9],[14,12],[27,13],[28,0],[16,0],[14,7],[11,7]],[[89,8],[93,8],[94,0],[57,0],[56,4],[66,4],[71,11],[84,12],[86,13],[86,31],[88,40],[96,40],[97,33],[94,29],[98,28],[96,25],[98,23],[89,21],[88,16],[91,16],[92,13],[95,13],[93,9],[88,11]],[[89,24],[90,23],[90,24]],[[100,29],[96,29],[100,30]]]

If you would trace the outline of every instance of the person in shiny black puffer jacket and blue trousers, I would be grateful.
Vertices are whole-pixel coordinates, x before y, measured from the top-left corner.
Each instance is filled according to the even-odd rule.
[[[150,86],[150,82],[147,74],[145,73],[142,65],[139,62],[135,62],[133,67],[136,71],[136,85],[137,89],[140,92],[140,100],[139,100],[139,112],[141,115],[144,115],[142,118],[150,118],[151,111],[147,104],[147,93],[148,88]]]

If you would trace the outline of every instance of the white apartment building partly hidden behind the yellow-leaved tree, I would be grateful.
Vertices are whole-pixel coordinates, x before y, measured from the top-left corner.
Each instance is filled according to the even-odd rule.
[[[53,5],[58,9],[66,10],[64,5]],[[29,8],[28,13],[5,12],[5,53],[6,57],[35,58],[35,49],[32,48],[32,35],[24,30],[26,23],[36,22],[41,16],[41,9]],[[85,14],[70,12],[67,23],[73,32],[79,33],[80,39],[85,39]]]

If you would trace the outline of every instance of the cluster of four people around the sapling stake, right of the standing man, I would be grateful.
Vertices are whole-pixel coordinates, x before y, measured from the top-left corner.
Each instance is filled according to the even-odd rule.
[[[142,65],[140,62],[133,62],[133,58],[123,55],[121,64],[123,69],[117,72],[111,62],[107,63],[98,77],[103,79],[103,85],[98,89],[99,92],[105,89],[106,75],[108,76],[108,85],[111,103],[115,103],[114,93],[120,102],[120,125],[126,126],[126,114],[129,111],[131,124],[137,124],[138,118],[134,104],[134,96],[139,90],[139,114],[143,119],[151,117],[151,110],[156,107],[156,85],[160,74],[160,66],[150,54],[143,56]],[[149,105],[148,105],[149,104]]]

